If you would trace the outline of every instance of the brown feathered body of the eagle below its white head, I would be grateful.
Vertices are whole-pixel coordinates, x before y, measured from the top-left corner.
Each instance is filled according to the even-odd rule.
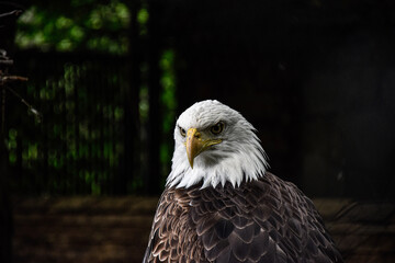
[[[166,188],[144,262],[342,262],[314,204],[267,173],[238,187]]]

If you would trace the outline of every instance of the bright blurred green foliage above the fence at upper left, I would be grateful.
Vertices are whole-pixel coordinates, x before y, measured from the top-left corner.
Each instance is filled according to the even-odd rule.
[[[43,52],[127,53],[131,14],[125,3],[119,0],[70,3],[66,9],[60,4],[33,5],[26,10],[18,22],[16,45],[22,49],[38,48]],[[144,21],[147,15],[140,16]]]

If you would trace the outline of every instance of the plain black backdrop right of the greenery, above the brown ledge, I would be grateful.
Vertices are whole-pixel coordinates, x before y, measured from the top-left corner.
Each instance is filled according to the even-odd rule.
[[[237,108],[258,128],[271,171],[309,195],[394,197],[390,2],[185,5],[171,34],[185,65],[180,110],[208,98]]]

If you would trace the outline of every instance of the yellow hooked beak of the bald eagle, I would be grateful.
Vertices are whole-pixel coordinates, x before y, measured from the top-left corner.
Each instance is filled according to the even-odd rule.
[[[205,151],[213,145],[219,144],[221,139],[204,139],[196,128],[190,128],[187,133],[187,156],[191,168],[193,169],[193,160],[201,152]]]

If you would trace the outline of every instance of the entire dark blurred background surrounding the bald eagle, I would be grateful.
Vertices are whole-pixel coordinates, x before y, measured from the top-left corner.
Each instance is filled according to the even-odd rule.
[[[393,1],[0,3],[15,10],[0,16],[0,262],[138,262],[177,116],[206,99],[258,129],[347,262],[394,261]]]

